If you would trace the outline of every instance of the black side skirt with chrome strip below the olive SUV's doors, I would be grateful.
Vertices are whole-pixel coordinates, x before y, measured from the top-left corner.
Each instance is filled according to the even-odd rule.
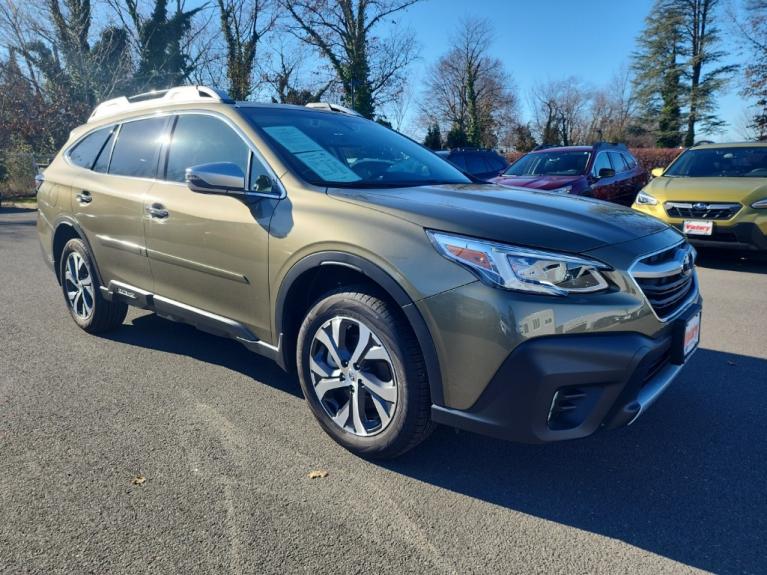
[[[108,301],[121,301],[134,307],[152,310],[165,319],[234,339],[250,351],[276,361],[282,368],[285,367],[281,362],[283,354],[280,353],[282,334],[274,346],[258,339],[247,326],[238,321],[118,281],[110,281],[107,287],[101,286],[101,295]]]

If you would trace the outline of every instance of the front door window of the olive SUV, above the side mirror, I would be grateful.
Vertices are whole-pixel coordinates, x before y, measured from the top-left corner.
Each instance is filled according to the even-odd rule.
[[[183,182],[187,168],[214,162],[231,162],[247,175],[249,157],[250,149],[243,139],[221,120],[181,114],[173,129],[165,179]],[[254,169],[254,176],[258,175],[261,173]]]

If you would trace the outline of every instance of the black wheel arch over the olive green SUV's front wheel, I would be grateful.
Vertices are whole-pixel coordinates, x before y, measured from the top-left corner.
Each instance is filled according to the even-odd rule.
[[[319,279],[322,278],[322,279]],[[312,295],[319,295],[327,285],[328,278],[337,280],[337,285],[367,283],[397,305],[402,311],[410,328],[416,336],[426,365],[432,403],[443,405],[442,375],[439,356],[434,345],[431,331],[413,299],[392,276],[380,266],[360,256],[346,252],[319,252],[298,261],[285,274],[275,299],[275,333],[280,338],[280,351],[277,361],[292,371],[295,367],[296,320],[295,315],[303,317],[313,303],[308,301]],[[356,281],[355,281],[356,280]],[[339,283],[340,282],[340,283]],[[291,313],[297,308],[298,314]],[[300,326],[300,322],[298,323]]]

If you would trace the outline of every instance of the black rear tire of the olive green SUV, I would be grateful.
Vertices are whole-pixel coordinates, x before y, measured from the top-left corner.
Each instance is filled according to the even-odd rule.
[[[84,276],[84,269],[87,270],[88,277],[90,278],[90,286],[92,290],[87,288],[79,288],[67,279],[67,266],[70,262],[70,256],[76,254],[72,261],[82,261],[82,266],[77,271],[78,280],[80,276]],[[77,259],[77,256],[81,259]],[[61,280],[61,289],[64,294],[64,301],[67,304],[67,309],[75,320],[75,323],[88,333],[103,333],[116,329],[122,325],[125,320],[125,315],[128,313],[127,304],[121,302],[111,302],[105,300],[101,295],[101,283],[99,281],[98,274],[96,273],[96,266],[93,263],[93,256],[88,250],[88,246],[79,238],[71,239],[64,246],[61,252],[60,264],[59,264],[59,279]],[[70,269],[70,276],[72,271]],[[78,288],[80,292],[80,298],[75,296],[75,302],[70,301],[69,293],[72,288]],[[88,304],[90,303],[90,311],[88,311]],[[85,307],[83,307],[85,306]]]

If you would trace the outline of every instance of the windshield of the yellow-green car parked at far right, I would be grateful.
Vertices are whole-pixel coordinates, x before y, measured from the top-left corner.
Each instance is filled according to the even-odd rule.
[[[663,175],[688,178],[767,178],[767,146],[687,150]]]

